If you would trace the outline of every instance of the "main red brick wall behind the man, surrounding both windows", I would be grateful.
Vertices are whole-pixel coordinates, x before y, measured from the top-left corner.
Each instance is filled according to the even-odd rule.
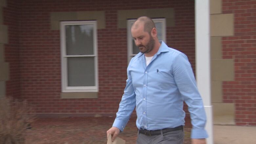
[[[127,31],[117,28],[117,10],[174,8],[175,26],[167,27],[167,44],[186,53],[195,67],[194,1],[23,0],[18,6],[20,94],[34,113],[117,112],[127,77]],[[92,10],[104,10],[106,17],[106,28],[98,30],[98,98],[60,99],[60,33],[50,28],[50,12]]]

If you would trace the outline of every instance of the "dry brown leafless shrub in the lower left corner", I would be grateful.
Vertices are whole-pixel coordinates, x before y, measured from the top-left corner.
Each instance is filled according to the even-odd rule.
[[[24,144],[26,129],[34,116],[25,101],[0,99],[0,144]]]

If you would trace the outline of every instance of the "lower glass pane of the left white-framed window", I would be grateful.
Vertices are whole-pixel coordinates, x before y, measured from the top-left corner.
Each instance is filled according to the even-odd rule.
[[[95,86],[94,57],[68,57],[68,86]]]

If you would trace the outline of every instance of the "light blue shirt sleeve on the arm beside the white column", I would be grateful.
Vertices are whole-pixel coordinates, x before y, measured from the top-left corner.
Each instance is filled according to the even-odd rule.
[[[206,114],[203,107],[203,100],[197,89],[194,73],[185,54],[180,53],[176,57],[173,63],[173,75],[190,112],[192,124],[191,138],[207,138],[208,134],[204,129]]]

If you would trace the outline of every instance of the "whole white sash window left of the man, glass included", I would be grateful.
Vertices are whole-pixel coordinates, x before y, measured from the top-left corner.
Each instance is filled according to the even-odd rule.
[[[96,21],[60,22],[62,92],[97,92]]]

